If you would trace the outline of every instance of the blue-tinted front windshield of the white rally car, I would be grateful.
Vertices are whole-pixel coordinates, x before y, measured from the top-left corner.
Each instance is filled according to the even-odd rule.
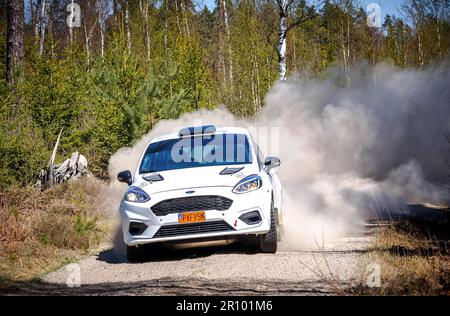
[[[250,145],[246,135],[200,135],[150,144],[145,151],[139,173],[251,162]]]

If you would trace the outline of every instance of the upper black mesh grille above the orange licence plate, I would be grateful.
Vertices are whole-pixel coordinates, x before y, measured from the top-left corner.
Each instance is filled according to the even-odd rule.
[[[151,210],[156,216],[207,210],[225,211],[232,203],[232,200],[218,195],[189,196],[161,201],[153,205]]]

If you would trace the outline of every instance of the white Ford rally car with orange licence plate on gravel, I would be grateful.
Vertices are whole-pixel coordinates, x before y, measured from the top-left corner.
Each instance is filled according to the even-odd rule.
[[[264,159],[244,128],[183,128],[153,139],[120,204],[127,257],[140,245],[217,240],[256,235],[261,252],[275,253],[279,240],[280,160]]]

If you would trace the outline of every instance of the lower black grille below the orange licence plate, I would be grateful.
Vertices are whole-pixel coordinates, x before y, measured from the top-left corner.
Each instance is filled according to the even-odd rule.
[[[224,221],[161,226],[153,238],[233,231]]]

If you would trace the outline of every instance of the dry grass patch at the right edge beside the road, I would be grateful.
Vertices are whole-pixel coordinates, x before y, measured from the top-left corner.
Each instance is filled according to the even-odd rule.
[[[450,295],[450,253],[448,240],[430,231],[420,233],[405,222],[383,228],[361,262],[359,295]],[[408,228],[408,229],[405,229]],[[414,233],[412,233],[414,231]],[[381,287],[365,285],[366,267],[378,263]]]

